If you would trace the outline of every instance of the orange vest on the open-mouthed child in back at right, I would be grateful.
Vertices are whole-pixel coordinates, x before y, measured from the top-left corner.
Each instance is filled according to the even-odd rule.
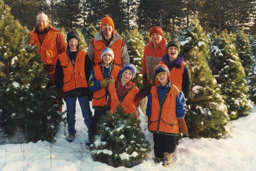
[[[163,62],[160,62],[159,64],[164,64]],[[175,84],[178,88],[182,88],[182,77],[183,77],[183,72],[184,68],[186,66],[185,62],[182,62],[180,69],[173,67],[172,70],[170,71],[170,77],[172,79],[172,83]]]

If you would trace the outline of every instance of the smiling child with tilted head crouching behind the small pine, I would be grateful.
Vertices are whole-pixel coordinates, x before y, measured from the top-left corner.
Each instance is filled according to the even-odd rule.
[[[151,85],[146,85],[141,90],[137,88],[134,82],[136,67],[131,64],[125,64],[117,78],[116,82],[109,85],[109,96],[105,108],[114,113],[117,105],[125,108],[125,113],[134,113],[137,119],[136,105],[142,100],[150,91]]]

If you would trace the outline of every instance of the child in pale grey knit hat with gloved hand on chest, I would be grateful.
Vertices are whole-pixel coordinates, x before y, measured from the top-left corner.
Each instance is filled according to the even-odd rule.
[[[93,91],[93,122],[91,129],[96,135],[99,117],[105,113],[104,105],[108,97],[108,85],[115,82],[120,68],[113,65],[114,52],[111,48],[104,48],[101,53],[101,63],[93,68],[89,79],[89,88]]]

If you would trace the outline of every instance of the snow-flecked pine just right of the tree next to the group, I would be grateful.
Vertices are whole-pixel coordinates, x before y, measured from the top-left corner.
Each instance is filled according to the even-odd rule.
[[[215,35],[211,46],[209,66],[221,88],[228,107],[230,119],[244,117],[251,111],[252,105],[248,100],[247,80],[235,46],[232,44],[227,30]]]

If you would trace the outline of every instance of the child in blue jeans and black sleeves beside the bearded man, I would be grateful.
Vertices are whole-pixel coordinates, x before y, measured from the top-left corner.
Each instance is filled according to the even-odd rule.
[[[58,57],[54,80],[59,101],[62,102],[64,97],[67,105],[67,127],[69,133],[67,141],[72,142],[76,135],[76,99],[79,100],[81,106],[84,123],[88,128],[88,136],[92,136],[90,124],[93,116],[90,111],[90,90],[87,82],[90,71],[93,69],[93,64],[90,58],[87,57],[86,52],[79,49],[79,34],[76,31],[67,33],[67,43],[67,51]]]

